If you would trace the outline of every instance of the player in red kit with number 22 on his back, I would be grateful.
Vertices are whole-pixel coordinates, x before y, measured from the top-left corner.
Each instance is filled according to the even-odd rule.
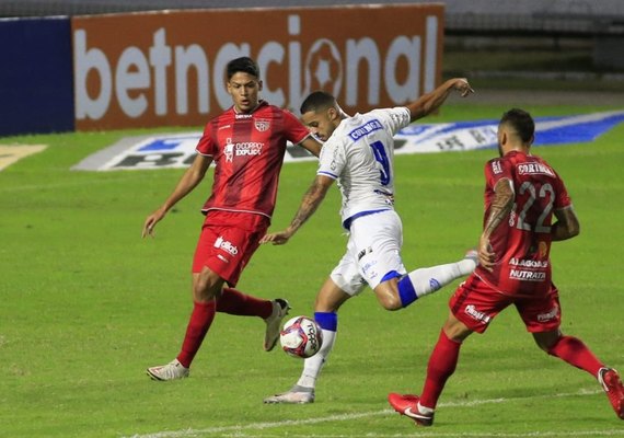
[[[548,163],[530,153],[534,129],[531,115],[522,110],[502,115],[498,125],[500,158],[485,165],[479,266],[450,299],[451,312],[429,357],[420,395],[389,395],[394,410],[417,425],[432,425],[434,410],[455,370],[462,342],[473,332],[485,332],[511,304],[538,346],[597,378],[615,414],[624,419],[624,387],[617,371],[559,328],[559,296],[551,280],[551,242],[577,235],[579,222],[562,178]]]

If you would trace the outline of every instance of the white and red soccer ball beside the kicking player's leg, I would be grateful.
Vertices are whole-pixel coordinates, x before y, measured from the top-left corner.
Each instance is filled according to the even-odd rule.
[[[308,316],[294,316],[284,324],[279,342],[288,355],[305,359],[321,349],[323,332],[314,320]]]

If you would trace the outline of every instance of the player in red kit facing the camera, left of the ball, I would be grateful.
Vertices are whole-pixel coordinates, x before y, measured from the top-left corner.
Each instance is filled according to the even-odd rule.
[[[201,209],[206,218],[193,260],[193,312],[177,357],[148,368],[154,380],[188,376],[216,312],[264,319],[264,349],[268,351],[289,309],[284,299],[264,300],[234,287],[270,223],[287,140],[315,155],[321,145],[291,113],[259,99],[263,83],[254,60],[230,61],[227,76],[233,106],[208,122],[193,164],[143,224],[142,237],[153,235],[155,224],[204,180],[215,162],[212,193]]]

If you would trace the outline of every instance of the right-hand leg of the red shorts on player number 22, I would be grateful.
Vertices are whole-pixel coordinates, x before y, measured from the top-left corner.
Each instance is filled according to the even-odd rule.
[[[516,309],[530,333],[557,332],[562,324],[559,292],[554,285],[542,296],[519,300]]]

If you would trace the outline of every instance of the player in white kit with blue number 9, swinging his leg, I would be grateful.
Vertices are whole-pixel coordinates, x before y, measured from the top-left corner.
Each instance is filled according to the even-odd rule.
[[[316,177],[290,226],[265,235],[262,243],[285,244],[316,210],[337,181],[343,195],[343,227],[347,251],[316,296],[314,319],[323,328],[323,346],[305,359],[303,372],[289,391],[265,403],[311,403],[321,368],[334,346],[337,311],[366,285],[384,309],[398,310],[476,267],[476,252],[457,263],[407,273],[401,260],[403,228],[394,210],[394,135],[409,123],[435,112],[457,90],[473,92],[463,78],[451,79],[407,106],[373,110],[347,116],[325,92],[310,94],[301,105],[303,123],[324,141]]]

